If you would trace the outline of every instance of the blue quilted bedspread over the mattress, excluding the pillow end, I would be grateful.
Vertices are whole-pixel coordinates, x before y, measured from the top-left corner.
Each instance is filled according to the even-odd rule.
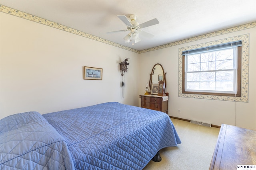
[[[140,170],[180,139],[163,112],[116,102],[42,115],[64,137],[78,170]]]

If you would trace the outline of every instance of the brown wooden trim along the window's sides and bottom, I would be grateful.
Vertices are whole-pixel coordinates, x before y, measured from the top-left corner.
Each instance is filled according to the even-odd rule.
[[[185,55],[182,55],[182,93],[183,94],[241,97],[242,46],[237,47],[237,92],[235,94],[234,93],[218,93],[218,92],[185,91],[185,63],[186,63]]]

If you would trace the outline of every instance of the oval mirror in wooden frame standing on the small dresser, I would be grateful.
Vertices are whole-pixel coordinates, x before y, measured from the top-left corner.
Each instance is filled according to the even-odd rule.
[[[160,80],[165,82],[166,87],[166,78],[165,78],[164,68],[161,64],[157,63],[153,66],[151,74],[150,74],[150,80],[149,80],[149,88],[150,92],[152,91],[152,84],[158,84]]]

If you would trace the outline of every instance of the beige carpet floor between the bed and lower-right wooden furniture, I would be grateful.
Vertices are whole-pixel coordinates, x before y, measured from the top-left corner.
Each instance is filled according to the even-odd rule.
[[[151,160],[143,170],[208,170],[220,129],[178,119],[172,122],[182,143],[160,150],[162,161]]]

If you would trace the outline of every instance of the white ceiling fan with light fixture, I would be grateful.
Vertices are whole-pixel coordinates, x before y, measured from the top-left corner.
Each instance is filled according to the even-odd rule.
[[[139,24],[138,22],[135,21],[137,19],[137,16],[133,14],[130,15],[129,17],[130,20],[128,20],[128,18],[126,18],[125,15],[118,15],[118,18],[127,25],[127,29],[119,30],[119,31],[111,31],[107,33],[130,31],[130,33],[128,33],[128,35],[124,37],[124,40],[126,43],[132,42],[132,45],[134,45],[134,43],[138,43],[139,41],[141,41],[139,34],[143,35],[144,37],[153,38],[154,35],[147,33],[145,31],[142,31],[141,29],[152,26],[152,25],[156,25],[159,23],[159,21],[156,18],[154,18],[153,20],[149,20]]]

